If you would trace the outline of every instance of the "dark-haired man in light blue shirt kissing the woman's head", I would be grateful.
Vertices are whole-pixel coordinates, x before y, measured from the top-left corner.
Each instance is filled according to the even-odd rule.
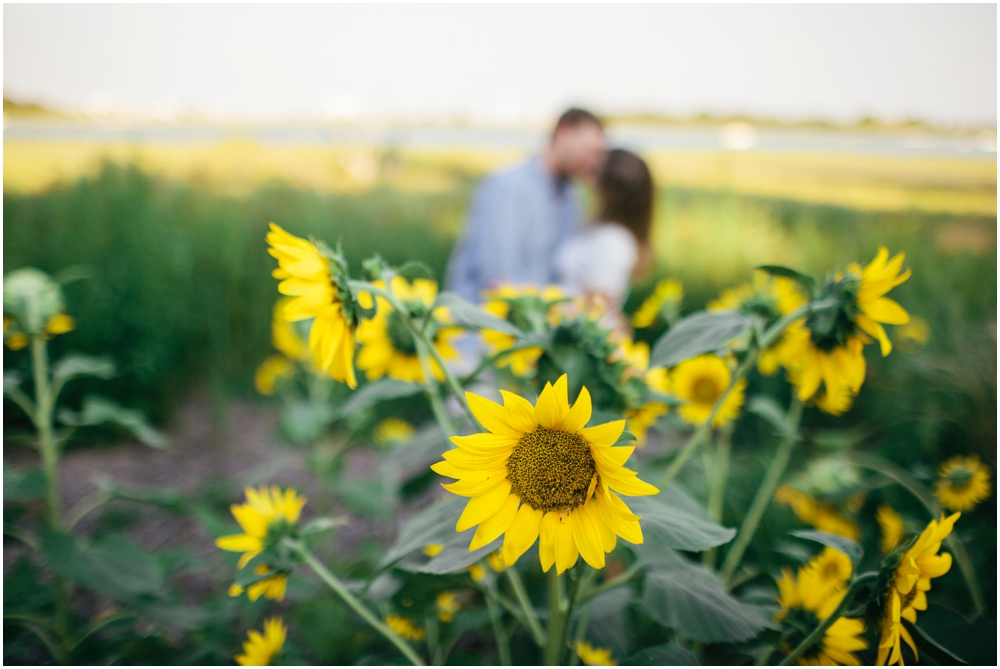
[[[570,109],[541,155],[487,177],[448,264],[448,290],[476,303],[502,283],[552,283],[556,247],[582,222],[570,180],[593,180],[606,153],[600,119]]]

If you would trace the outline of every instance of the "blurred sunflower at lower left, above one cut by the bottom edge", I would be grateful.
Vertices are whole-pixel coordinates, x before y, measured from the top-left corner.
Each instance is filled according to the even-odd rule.
[[[243,554],[236,563],[238,569],[243,569],[250,560],[273,543],[274,535],[280,534],[289,525],[295,525],[306,503],[305,498],[299,497],[294,488],[282,492],[278,486],[271,486],[270,490],[267,486],[261,486],[259,490],[247,488],[244,493],[246,504],[233,504],[230,507],[233,517],[243,528],[244,533],[231,534],[215,540],[215,545],[222,550]],[[254,571],[263,576],[271,569],[267,565],[258,565]],[[281,600],[285,596],[286,581],[286,574],[275,574],[271,578],[250,585],[247,588],[247,596],[252,600],[261,595],[268,599]],[[243,589],[235,584],[229,589],[232,597],[242,592]]]

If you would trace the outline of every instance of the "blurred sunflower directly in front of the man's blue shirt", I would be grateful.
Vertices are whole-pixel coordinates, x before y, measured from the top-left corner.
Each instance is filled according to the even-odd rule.
[[[483,310],[497,318],[501,318],[526,331],[531,331],[531,314],[522,313],[524,309],[517,303],[520,298],[537,298],[530,306],[536,307],[540,313],[544,313],[546,318],[552,315],[551,304],[565,297],[565,293],[559,286],[544,286],[541,289],[535,286],[503,285],[493,290],[483,291]],[[539,303],[540,302],[540,303]],[[483,330],[483,341],[486,343],[486,350],[489,355],[496,355],[512,348],[517,343],[517,338],[513,335],[497,330]],[[514,376],[530,376],[538,365],[538,358],[542,355],[542,347],[529,346],[519,351],[513,351],[508,355],[497,359],[498,367],[510,367]]]

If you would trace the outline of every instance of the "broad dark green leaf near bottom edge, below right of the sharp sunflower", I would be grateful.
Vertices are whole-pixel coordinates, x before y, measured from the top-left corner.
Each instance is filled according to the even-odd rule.
[[[703,643],[752,639],[772,626],[753,607],[733,597],[712,571],[672,551],[646,575],[642,605],[679,636]]]

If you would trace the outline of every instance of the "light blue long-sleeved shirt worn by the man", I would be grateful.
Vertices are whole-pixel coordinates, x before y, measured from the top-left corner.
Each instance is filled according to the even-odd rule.
[[[572,186],[556,179],[541,158],[493,174],[469,207],[446,288],[478,303],[483,289],[501,283],[553,283],[556,248],[581,222]]]

